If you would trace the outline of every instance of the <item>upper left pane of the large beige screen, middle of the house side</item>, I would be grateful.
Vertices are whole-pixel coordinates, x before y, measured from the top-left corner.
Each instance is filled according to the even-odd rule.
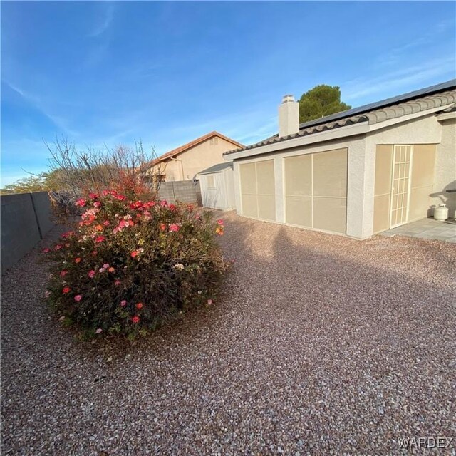
[[[286,158],[285,167],[285,195],[311,196],[312,195],[312,157],[298,155]]]

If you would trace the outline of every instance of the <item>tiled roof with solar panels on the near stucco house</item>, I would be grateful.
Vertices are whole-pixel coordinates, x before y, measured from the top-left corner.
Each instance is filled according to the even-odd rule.
[[[301,125],[299,125],[299,132],[292,135],[283,137],[274,135],[255,144],[248,145],[247,147],[229,150],[224,152],[223,155],[242,152],[244,150],[254,149],[263,145],[274,144],[274,142],[286,141],[298,138],[299,136],[307,136],[321,131],[333,130],[346,125],[353,125],[355,123],[367,122],[369,125],[372,125],[384,122],[385,120],[400,118],[403,115],[418,113],[432,108],[438,108],[439,106],[446,106],[451,103],[456,103],[455,86],[456,80],[452,80],[438,86],[417,90],[416,92],[412,92],[410,94],[401,95],[395,98],[388,98],[388,100],[383,100],[383,102],[371,103],[371,105],[361,106],[361,108],[354,108],[342,113],[328,115],[321,119],[311,120],[306,123],[301,123]],[[452,88],[452,90],[445,90],[445,88]],[[435,90],[432,90],[432,93],[430,89],[440,89],[442,91],[440,93],[435,93]],[[425,90],[429,90],[432,95],[424,96],[426,93]],[[418,93],[420,93],[421,96],[417,96]],[[407,98],[407,95],[412,96],[412,98]],[[351,113],[355,113],[356,115],[351,115]]]

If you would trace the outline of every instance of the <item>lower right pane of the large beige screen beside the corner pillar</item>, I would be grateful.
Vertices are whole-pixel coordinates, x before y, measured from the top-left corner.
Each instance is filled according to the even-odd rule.
[[[345,234],[346,212],[345,198],[314,197],[314,228]]]

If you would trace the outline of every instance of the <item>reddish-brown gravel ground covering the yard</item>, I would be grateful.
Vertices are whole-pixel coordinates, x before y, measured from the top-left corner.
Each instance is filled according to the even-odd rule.
[[[40,301],[38,249],[4,276],[2,455],[405,455],[426,451],[401,438],[456,437],[456,246],[224,217],[225,296],[147,340],[73,341]]]

